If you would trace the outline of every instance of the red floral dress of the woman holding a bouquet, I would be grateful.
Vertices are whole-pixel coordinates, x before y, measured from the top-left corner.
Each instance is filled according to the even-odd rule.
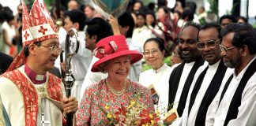
[[[152,97],[146,87],[131,82],[123,95],[118,96],[109,91],[105,82],[105,80],[101,80],[100,83],[92,84],[85,90],[76,114],[77,126],[109,125],[106,113],[118,110],[121,106],[128,108],[130,101],[135,100],[141,106],[146,106],[150,111],[154,111]],[[139,98],[138,95],[140,95]]]

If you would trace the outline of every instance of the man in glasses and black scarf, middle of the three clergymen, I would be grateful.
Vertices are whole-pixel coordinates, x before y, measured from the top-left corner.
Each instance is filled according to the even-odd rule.
[[[191,84],[182,117],[183,125],[205,125],[206,113],[212,109],[209,105],[224,85],[221,82],[232,74],[232,69],[227,69],[221,60],[220,29],[218,24],[205,24],[198,33],[197,47],[208,65],[198,69]]]

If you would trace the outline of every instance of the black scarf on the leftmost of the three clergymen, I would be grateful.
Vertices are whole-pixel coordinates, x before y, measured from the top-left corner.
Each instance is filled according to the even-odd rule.
[[[197,72],[198,68],[204,64],[204,60],[200,57],[198,60],[194,63],[192,69],[190,70],[189,75],[186,78],[186,82],[183,87],[182,94],[179,98],[179,105],[177,108],[177,112],[179,114],[179,117],[182,117],[183,115],[183,109],[186,105],[186,97],[188,94],[188,91],[190,90],[190,85],[192,81],[194,80],[194,75]],[[182,64],[178,65],[173,71],[171,72],[171,76],[169,79],[169,105],[171,105],[173,102],[175,102],[175,96],[179,87],[179,80],[183,72],[185,62],[183,61]],[[168,108],[168,110],[171,108]]]

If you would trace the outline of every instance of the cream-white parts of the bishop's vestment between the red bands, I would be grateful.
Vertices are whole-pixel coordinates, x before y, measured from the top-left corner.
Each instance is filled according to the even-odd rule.
[[[31,80],[28,78],[28,76],[24,73],[24,66],[19,68],[19,71],[26,77],[26,79],[30,82]],[[47,80],[48,81],[48,73],[47,73]],[[21,94],[21,89],[17,87],[13,81],[9,80],[6,77],[0,77],[0,97],[2,98],[2,101],[0,101],[2,106],[5,107],[6,113],[8,114],[9,121],[13,126],[25,126],[25,109],[24,109],[24,99],[23,95]],[[34,84],[35,87],[44,87],[44,89],[47,88],[47,83],[43,83],[40,85]],[[61,85],[62,88],[62,95],[65,96],[65,89],[64,85]],[[46,90],[47,91],[47,90]],[[38,114],[37,114],[37,125],[42,125],[41,123],[41,110],[43,104],[41,102],[42,95],[39,93],[40,91],[36,88],[36,94],[38,96]],[[44,94],[45,100],[45,106],[43,107],[43,111],[45,112],[45,120],[51,121],[51,126],[62,126],[62,103],[58,102],[54,99],[51,99],[49,97],[48,92]],[[32,107],[32,106],[28,106]],[[0,111],[2,111],[2,108],[0,108]],[[29,114],[29,113],[28,113]],[[1,116],[0,116],[1,117]],[[2,119],[0,119],[2,120]],[[50,124],[45,124],[45,126],[50,126]]]

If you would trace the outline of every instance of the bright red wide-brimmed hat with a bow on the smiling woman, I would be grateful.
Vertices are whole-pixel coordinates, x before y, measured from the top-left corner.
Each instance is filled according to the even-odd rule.
[[[92,72],[100,72],[100,64],[105,61],[110,61],[115,57],[121,57],[124,55],[130,55],[130,64],[134,64],[140,61],[143,55],[136,50],[129,50],[126,43],[126,38],[123,35],[112,35],[107,38],[101,39],[99,43],[96,44],[96,49],[93,50],[92,54],[99,58],[92,65]]]

